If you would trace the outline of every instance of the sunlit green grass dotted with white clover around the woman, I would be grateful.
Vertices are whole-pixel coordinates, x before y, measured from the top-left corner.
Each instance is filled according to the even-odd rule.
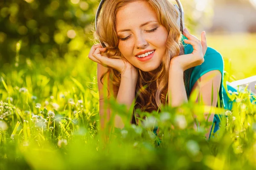
[[[248,37],[256,44],[253,36]],[[209,36],[208,45],[220,51],[225,62],[231,58],[231,68],[241,69],[241,61],[251,60],[244,75],[235,76],[252,76],[247,68],[255,73],[249,55],[255,48],[232,38]],[[225,47],[225,42],[233,44]],[[256,105],[247,91],[232,94],[237,103],[231,112],[211,109],[227,118],[223,116],[221,129],[209,141],[204,134],[210,124],[202,113],[210,108],[195,104],[193,97],[182,106],[182,113],[177,108],[151,114],[137,110],[140,117],[147,116],[138,126],[125,122],[125,128],[114,133],[100,131],[96,63],[87,58],[89,50],[78,58],[70,53],[52,60],[26,59],[17,51],[19,62],[1,68],[0,170],[256,168]],[[243,60],[233,62],[238,57]],[[123,105],[109,102],[114,114],[129,114]],[[197,130],[192,127],[192,113],[201,122]],[[110,121],[108,126],[112,125]],[[158,136],[152,132],[156,125]]]

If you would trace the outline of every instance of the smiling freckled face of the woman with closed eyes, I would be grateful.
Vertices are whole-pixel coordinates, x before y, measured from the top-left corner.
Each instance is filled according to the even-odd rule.
[[[122,7],[116,14],[116,30],[118,48],[125,59],[142,71],[153,73],[165,54],[168,31],[149,4],[137,1]],[[154,53],[148,55],[145,51]],[[143,54],[137,56],[140,52]]]

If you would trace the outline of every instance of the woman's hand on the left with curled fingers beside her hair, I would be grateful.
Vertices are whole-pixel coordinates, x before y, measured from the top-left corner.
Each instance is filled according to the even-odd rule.
[[[89,59],[93,60],[94,62],[98,62],[105,67],[114,68],[121,74],[127,69],[137,71],[137,69],[128,61],[125,61],[123,59],[108,58],[107,56],[102,55],[101,53],[105,52],[106,49],[107,48],[101,48],[100,44],[93,45],[88,55]]]

